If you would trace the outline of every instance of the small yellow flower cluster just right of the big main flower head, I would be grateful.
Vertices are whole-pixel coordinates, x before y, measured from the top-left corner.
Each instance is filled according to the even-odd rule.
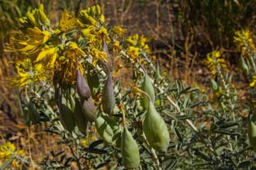
[[[133,60],[137,60],[141,53],[150,53],[150,48],[146,43],[147,38],[143,35],[139,36],[138,34],[135,34],[129,36],[126,39],[126,42],[128,44],[127,55]]]

